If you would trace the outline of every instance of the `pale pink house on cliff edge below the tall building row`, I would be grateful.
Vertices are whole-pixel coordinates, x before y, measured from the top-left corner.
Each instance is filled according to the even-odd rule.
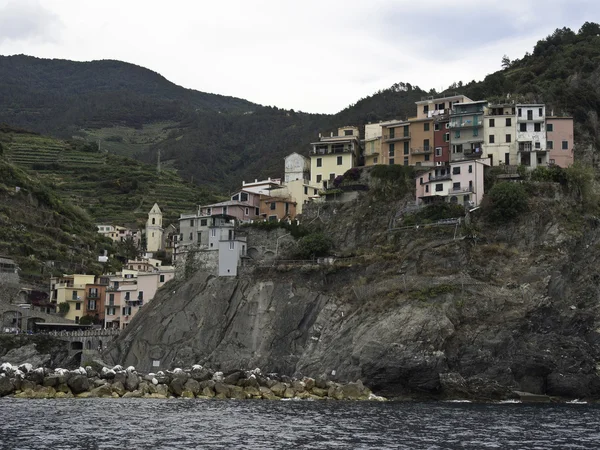
[[[483,176],[489,158],[455,161],[417,177],[417,203],[445,201],[477,206],[484,194]]]

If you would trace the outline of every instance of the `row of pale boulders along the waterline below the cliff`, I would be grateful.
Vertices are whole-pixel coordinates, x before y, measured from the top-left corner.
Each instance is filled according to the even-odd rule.
[[[361,381],[339,384],[324,378],[295,379],[262,374],[260,369],[214,372],[196,365],[191,369],[142,374],[134,367],[115,366],[97,371],[0,365],[0,397],[15,398],[202,398],[377,400]]]

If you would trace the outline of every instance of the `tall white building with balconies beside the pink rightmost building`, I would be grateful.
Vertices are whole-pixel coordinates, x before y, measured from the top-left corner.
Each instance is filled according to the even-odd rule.
[[[543,104],[517,106],[518,163],[531,169],[547,166],[546,107]]]

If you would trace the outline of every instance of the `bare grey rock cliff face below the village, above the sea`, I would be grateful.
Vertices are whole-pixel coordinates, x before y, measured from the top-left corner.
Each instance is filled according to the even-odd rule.
[[[474,217],[390,233],[396,204],[321,206],[315,223],[354,258],[198,272],[160,292],[106,357],[360,378],[384,395],[598,397],[599,222],[544,189],[501,227]]]

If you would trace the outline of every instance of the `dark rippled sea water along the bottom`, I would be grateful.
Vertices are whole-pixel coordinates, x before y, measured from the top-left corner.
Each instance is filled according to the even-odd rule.
[[[600,407],[3,398],[0,448],[600,449]]]

